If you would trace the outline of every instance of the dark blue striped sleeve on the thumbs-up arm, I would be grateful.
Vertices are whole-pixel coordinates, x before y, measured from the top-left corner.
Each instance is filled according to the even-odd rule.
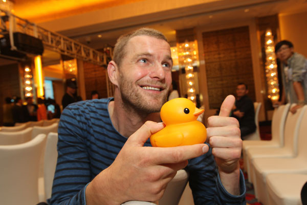
[[[240,172],[241,194],[239,196],[229,194],[223,187],[218,175],[211,148],[205,155],[190,159],[186,170],[190,175],[189,185],[193,193],[195,205],[246,204],[243,173]]]

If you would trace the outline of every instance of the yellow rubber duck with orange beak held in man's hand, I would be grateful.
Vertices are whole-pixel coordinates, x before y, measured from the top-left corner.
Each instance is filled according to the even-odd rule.
[[[197,120],[204,110],[196,108],[187,98],[174,98],[161,108],[165,128],[150,136],[152,147],[177,147],[202,144],[206,141],[206,127]]]

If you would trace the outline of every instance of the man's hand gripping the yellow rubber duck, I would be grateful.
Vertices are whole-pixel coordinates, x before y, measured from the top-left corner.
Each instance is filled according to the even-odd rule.
[[[86,204],[121,204],[130,200],[156,201],[167,183],[188,159],[208,152],[206,144],[173,148],[143,147],[151,134],[164,127],[147,121],[131,135],[111,166],[100,172],[85,190]]]

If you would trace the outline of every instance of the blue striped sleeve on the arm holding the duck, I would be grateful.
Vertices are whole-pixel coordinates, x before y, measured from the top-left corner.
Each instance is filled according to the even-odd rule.
[[[67,107],[58,127],[58,159],[49,204],[85,204],[85,186],[91,180],[81,111]]]

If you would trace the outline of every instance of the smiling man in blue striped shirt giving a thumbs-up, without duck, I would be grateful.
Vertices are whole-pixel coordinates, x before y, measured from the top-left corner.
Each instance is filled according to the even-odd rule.
[[[118,39],[107,67],[114,98],[86,100],[62,112],[51,204],[156,201],[185,167],[195,204],[245,204],[238,164],[242,140],[237,120],[226,117],[232,96],[221,116],[208,119],[210,149],[207,144],[150,147],[150,135],[164,128],[159,111],[171,85],[171,67],[162,33],[143,28]]]

